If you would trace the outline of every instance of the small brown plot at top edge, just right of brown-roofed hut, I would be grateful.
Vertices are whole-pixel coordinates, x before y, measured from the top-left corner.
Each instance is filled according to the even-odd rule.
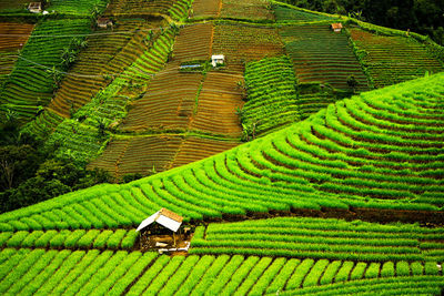
[[[168,10],[175,0],[111,0],[104,16],[108,17],[134,17],[147,14],[169,14]]]

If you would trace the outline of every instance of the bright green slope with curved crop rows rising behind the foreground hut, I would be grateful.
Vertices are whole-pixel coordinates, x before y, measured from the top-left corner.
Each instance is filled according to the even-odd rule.
[[[321,207],[442,213],[443,78],[339,101],[280,132],[152,177],[100,185],[3,214],[1,228],[31,229],[42,215],[44,228],[58,228],[56,222],[68,217],[49,213],[75,208],[87,220],[98,218],[93,227],[107,226],[102,216],[108,207],[91,203],[108,204],[120,214],[111,211],[107,217],[119,223],[120,216],[134,216],[122,200],[140,217],[165,206],[186,220]]]

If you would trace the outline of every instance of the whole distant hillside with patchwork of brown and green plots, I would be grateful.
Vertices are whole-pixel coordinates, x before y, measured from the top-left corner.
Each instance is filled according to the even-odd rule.
[[[279,2],[83,0],[78,10],[60,1],[51,9],[0,89],[3,116],[28,122],[22,131],[56,149],[54,157],[102,169],[115,182],[218,154],[355,92],[444,70],[434,45],[413,33]],[[83,28],[88,11],[111,18],[113,28]],[[68,20],[63,29],[58,14]],[[347,23],[342,33],[329,29],[337,21]],[[57,42],[39,35],[47,31],[60,32]],[[60,55],[67,47],[75,53],[68,64]],[[218,53],[226,57],[221,69],[180,70]],[[289,75],[269,71],[282,64],[273,58],[285,60]]]

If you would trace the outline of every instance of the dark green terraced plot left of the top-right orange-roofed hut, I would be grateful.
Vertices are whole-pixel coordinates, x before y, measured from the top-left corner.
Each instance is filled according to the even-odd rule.
[[[300,82],[330,83],[349,90],[347,78],[354,75],[357,90],[369,89],[345,33],[335,33],[327,24],[311,24],[286,27],[281,35]]]

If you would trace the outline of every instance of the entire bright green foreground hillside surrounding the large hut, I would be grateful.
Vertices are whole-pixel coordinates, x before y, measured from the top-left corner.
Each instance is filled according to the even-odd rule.
[[[130,184],[2,214],[0,288],[332,295],[372,286],[372,293],[438,294],[443,228],[377,222],[444,221],[443,143],[436,140],[444,126],[443,78],[339,101],[281,132]],[[199,226],[189,251],[196,255],[188,257],[140,253],[131,228],[159,207],[191,225],[295,217]],[[373,223],[323,218],[331,216]]]

